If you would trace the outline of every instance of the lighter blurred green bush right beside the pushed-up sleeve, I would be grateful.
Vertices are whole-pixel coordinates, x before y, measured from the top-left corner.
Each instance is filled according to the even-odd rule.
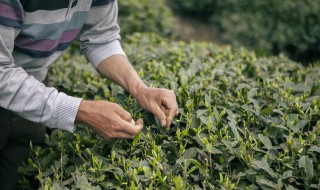
[[[119,2],[121,35],[154,32],[162,36],[174,33],[173,16],[164,0],[127,0]]]

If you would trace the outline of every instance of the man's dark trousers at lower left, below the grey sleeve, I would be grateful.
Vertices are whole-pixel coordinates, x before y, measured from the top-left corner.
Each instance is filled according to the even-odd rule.
[[[44,84],[48,84],[48,78]],[[30,141],[44,143],[46,127],[0,107],[0,190],[17,189],[18,167],[27,162]]]

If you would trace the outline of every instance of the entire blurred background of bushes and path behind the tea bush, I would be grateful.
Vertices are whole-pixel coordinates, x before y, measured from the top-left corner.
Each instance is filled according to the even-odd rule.
[[[118,2],[124,40],[134,32],[154,32],[172,39],[243,46],[259,55],[282,53],[303,64],[320,59],[318,0]]]

